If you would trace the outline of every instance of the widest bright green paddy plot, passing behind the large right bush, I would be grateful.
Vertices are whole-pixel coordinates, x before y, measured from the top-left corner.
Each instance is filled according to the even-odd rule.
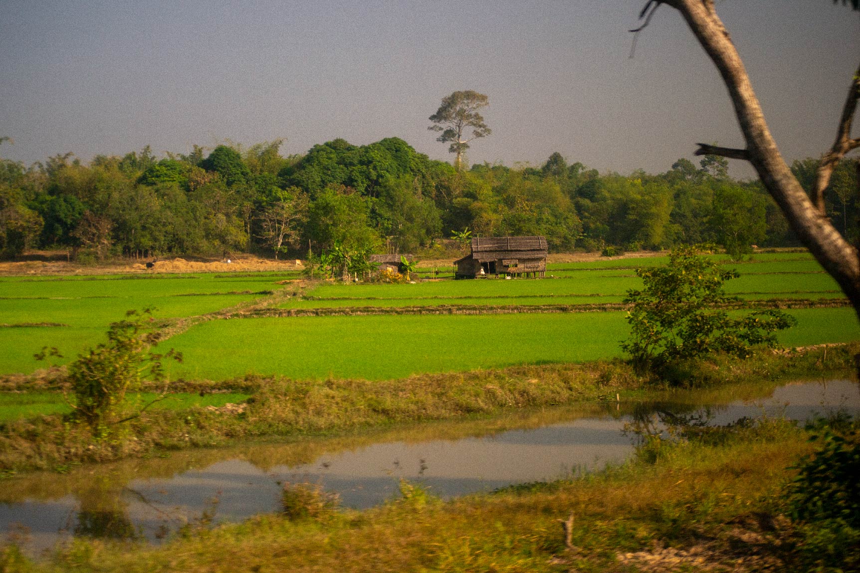
[[[790,346],[860,338],[850,308],[790,311]],[[185,363],[174,378],[230,379],[246,373],[293,379],[395,379],[514,364],[583,362],[621,356],[624,312],[512,315],[401,315],[217,320],[170,339]],[[241,341],[241,342],[239,342]]]

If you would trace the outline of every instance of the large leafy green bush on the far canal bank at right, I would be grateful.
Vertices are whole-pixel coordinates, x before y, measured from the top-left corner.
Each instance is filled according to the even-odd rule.
[[[678,360],[714,352],[749,357],[755,345],[776,347],[774,333],[796,323],[777,310],[729,316],[719,307],[738,299],[728,296],[722,285],[738,274],[718,268],[692,247],[675,249],[666,266],[638,268],[636,275],[644,287],[629,290],[624,299],[633,309],[627,316],[631,337],[621,348],[638,365],[657,372]]]

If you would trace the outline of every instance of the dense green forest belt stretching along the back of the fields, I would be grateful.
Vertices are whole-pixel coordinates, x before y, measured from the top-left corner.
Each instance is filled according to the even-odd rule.
[[[289,157],[281,143],[195,146],[163,158],[146,147],[89,164],[71,153],[30,166],[0,158],[0,252],[64,249],[84,260],[305,256],[336,246],[411,252],[466,231],[544,235],[556,251],[716,243],[740,254],[797,244],[759,182],[729,177],[722,157],[679,159],[657,175],[601,175],[559,153],[540,167],[458,171],[396,138],[335,139]],[[808,186],[816,165],[792,169]],[[828,216],[852,242],[858,169],[860,160],[843,160],[826,192]]]

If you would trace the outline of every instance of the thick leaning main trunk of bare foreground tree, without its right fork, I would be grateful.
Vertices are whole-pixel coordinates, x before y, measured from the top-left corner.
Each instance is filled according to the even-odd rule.
[[[667,0],[678,9],[693,34],[722,75],[734,104],[734,113],[746,140],[745,150],[722,149],[724,157],[742,157],[753,163],[761,182],[783,211],[792,231],[821,266],[839,283],[860,318],[860,258],[857,249],[839,234],[809,200],[777,149],[765,123],[759,100],[728,31],[716,15],[712,0]],[[855,89],[852,83],[852,89]],[[701,145],[697,155],[713,151]]]

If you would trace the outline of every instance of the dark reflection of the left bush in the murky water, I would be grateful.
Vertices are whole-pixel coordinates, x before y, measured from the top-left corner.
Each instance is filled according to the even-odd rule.
[[[141,536],[128,514],[128,503],[122,499],[124,484],[94,477],[77,491],[81,502],[77,512],[75,535],[107,539],[138,539]]]

